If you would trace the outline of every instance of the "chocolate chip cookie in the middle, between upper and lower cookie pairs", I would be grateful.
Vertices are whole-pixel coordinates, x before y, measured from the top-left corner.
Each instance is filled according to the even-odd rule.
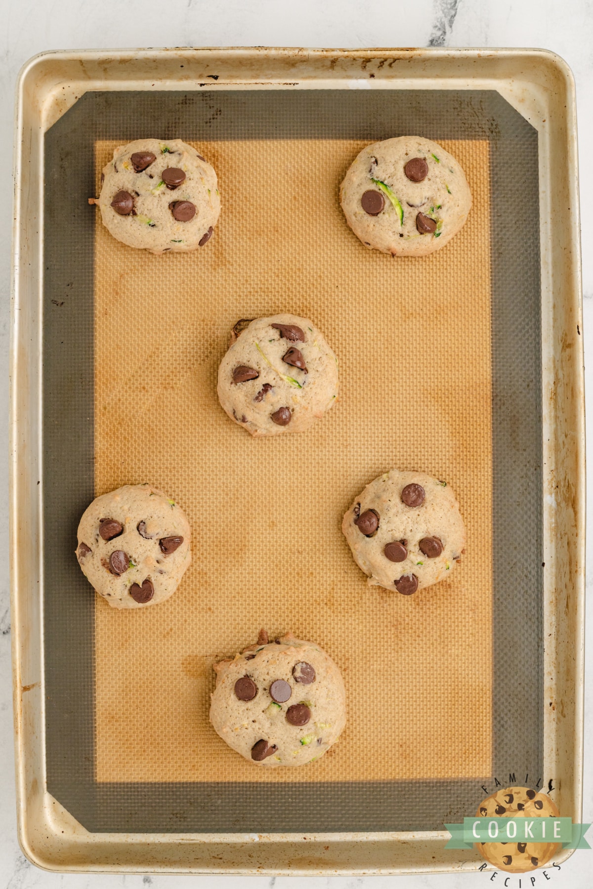
[[[307,318],[273,315],[241,329],[246,323],[235,325],[220,362],[220,404],[252,436],[304,432],[336,403],[336,356]]]

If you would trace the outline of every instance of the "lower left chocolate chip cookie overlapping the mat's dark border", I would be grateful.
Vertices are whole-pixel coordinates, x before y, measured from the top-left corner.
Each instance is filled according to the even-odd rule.
[[[191,562],[183,510],[152,485],[124,485],[92,501],[78,525],[84,576],[114,608],[164,602]]]

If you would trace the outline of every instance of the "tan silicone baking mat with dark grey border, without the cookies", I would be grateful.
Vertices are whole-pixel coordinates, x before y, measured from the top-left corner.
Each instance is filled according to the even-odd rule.
[[[405,132],[457,156],[474,198],[460,235],[421,260],[366,251],[337,202],[360,148]],[[84,199],[97,193],[113,148],[148,134],[193,141],[218,172],[220,223],[203,250],[133,251],[94,208],[73,214],[72,188],[69,202],[60,194],[60,168],[70,177],[73,162],[77,171],[89,164],[76,173]],[[57,349],[46,325],[46,458],[64,470],[74,458],[77,468],[45,497],[46,540],[56,534],[68,560],[61,597],[49,563],[45,575],[57,693],[48,722],[68,716],[71,730],[68,741],[63,729],[48,733],[51,792],[89,829],[439,829],[497,763],[537,771],[532,128],[493,93],[112,93],[87,95],[60,119],[46,162],[46,210],[51,196],[56,217],[46,228],[47,312],[70,347]],[[509,252],[520,220],[503,204],[502,182],[516,174],[533,209],[521,257]],[[252,440],[221,411],[216,371],[237,318],[280,311],[325,332],[341,399],[305,435]],[[79,427],[68,449],[67,405]],[[391,467],[445,478],[468,525],[452,580],[410,598],[367,588],[340,532],[352,499]],[[145,480],[186,509],[193,562],[166,604],[116,613],[78,576],[72,530],[94,494]],[[529,493],[518,503],[517,484]],[[73,623],[82,633],[68,645]],[[256,772],[208,723],[212,661],[254,641],[260,626],[315,639],[344,674],[347,728],[302,769]],[[521,701],[520,718],[509,717],[509,700]],[[73,754],[82,785],[65,768]]]

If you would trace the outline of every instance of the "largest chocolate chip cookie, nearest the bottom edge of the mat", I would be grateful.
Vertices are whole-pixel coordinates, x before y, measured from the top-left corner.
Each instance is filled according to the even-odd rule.
[[[292,633],[268,643],[260,630],[257,645],[214,669],[214,730],[257,765],[304,765],[323,757],[346,723],[340,670],[318,645]]]

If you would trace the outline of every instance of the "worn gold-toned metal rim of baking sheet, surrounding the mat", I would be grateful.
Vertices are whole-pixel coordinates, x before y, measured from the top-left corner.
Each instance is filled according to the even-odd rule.
[[[183,75],[180,74],[181,65]],[[216,78],[209,73],[216,73]],[[44,132],[88,90],[495,89],[540,144],[544,436],[544,770],[581,819],[584,380],[573,76],[545,50],[175,49],[47,52],[17,84],[11,344],[11,603],[20,846],[58,871],[395,874],[476,870],[446,830],[376,834],[91,834],[45,789],[41,331]],[[552,178],[552,171],[554,176]],[[568,203],[566,196],[569,196]],[[552,239],[552,207],[568,207]],[[558,220],[558,211],[554,218]],[[571,853],[561,853],[563,861]],[[482,863],[484,863],[482,861]]]

